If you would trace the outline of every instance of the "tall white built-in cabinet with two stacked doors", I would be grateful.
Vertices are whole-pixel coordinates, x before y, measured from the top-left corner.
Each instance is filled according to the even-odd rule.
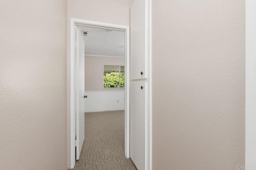
[[[134,0],[130,25],[130,158],[138,170],[147,169],[147,94],[149,0]],[[141,88],[143,87],[143,88]]]

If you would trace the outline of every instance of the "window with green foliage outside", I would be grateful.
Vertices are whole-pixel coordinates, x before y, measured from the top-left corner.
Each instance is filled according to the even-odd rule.
[[[124,88],[124,66],[104,65],[104,88]]]

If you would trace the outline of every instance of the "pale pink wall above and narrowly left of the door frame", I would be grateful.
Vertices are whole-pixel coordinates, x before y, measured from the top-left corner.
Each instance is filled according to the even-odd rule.
[[[68,0],[68,103],[70,103],[70,18],[130,25],[130,5],[110,0]],[[70,107],[68,106],[68,164],[70,164]]]

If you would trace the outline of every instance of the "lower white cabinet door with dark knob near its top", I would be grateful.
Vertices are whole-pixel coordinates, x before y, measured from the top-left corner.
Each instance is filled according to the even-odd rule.
[[[146,82],[131,82],[130,90],[130,158],[145,170]]]

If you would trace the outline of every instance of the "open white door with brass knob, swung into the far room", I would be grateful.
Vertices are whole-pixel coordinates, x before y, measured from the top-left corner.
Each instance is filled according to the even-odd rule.
[[[84,143],[84,40],[76,28],[76,160]]]

